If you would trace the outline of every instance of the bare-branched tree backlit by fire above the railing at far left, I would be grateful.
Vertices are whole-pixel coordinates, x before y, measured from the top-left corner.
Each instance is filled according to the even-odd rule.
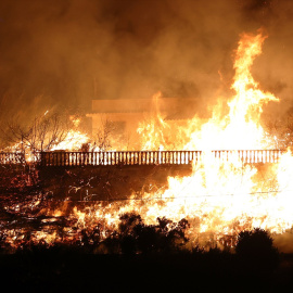
[[[36,158],[39,152],[54,150],[79,150],[89,141],[87,135],[77,130],[78,119],[73,116],[49,113],[35,117],[27,124],[21,124],[17,117],[2,126],[2,140],[14,152],[26,152],[28,160]],[[31,156],[30,156],[31,155]]]

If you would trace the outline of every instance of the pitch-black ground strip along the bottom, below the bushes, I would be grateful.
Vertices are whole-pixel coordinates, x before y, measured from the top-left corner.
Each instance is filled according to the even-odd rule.
[[[94,255],[17,253],[0,255],[0,279],[13,292],[289,292],[293,256],[267,269],[234,254]]]

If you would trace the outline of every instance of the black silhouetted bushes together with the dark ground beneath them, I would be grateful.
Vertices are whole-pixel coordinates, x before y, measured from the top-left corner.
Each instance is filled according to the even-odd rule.
[[[241,232],[233,254],[217,247],[182,250],[187,226],[186,220],[174,224],[166,218],[148,226],[139,215],[125,214],[118,230],[104,240],[99,226],[82,230],[79,241],[53,245],[44,241],[34,243],[28,233],[16,253],[0,254],[0,278],[14,280],[15,286],[22,290],[34,291],[46,284],[44,292],[59,292],[64,286],[71,292],[124,289],[128,292],[195,289],[234,292],[237,288],[276,292],[284,290],[290,282],[286,275],[278,277],[277,264],[263,269],[266,267],[259,267],[260,258],[255,260],[262,250],[269,252],[266,256],[270,259],[280,256],[266,231]],[[3,243],[4,239],[0,241]]]

